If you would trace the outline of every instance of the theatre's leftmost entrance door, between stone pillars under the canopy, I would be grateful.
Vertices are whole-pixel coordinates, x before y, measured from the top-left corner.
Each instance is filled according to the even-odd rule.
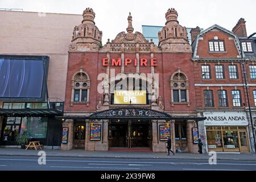
[[[85,147],[85,123],[75,123],[73,148]]]

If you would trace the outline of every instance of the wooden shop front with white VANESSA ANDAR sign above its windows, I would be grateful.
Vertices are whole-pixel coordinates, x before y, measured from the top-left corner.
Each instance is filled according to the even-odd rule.
[[[208,152],[250,152],[245,112],[205,112],[204,117]]]

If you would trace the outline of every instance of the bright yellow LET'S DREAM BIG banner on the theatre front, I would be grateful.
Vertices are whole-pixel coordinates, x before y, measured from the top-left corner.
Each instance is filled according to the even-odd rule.
[[[146,91],[115,90],[114,104],[147,104]]]

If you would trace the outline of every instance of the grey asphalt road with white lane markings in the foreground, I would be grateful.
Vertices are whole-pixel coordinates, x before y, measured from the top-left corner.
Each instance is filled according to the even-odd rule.
[[[111,159],[46,157],[46,164],[38,164],[36,156],[0,156],[0,171],[237,171],[256,170],[256,161],[188,159]]]

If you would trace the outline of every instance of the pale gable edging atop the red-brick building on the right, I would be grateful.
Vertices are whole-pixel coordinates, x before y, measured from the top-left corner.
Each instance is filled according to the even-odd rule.
[[[195,41],[192,43],[193,58],[195,58],[195,59],[197,58],[197,47],[198,47],[199,38],[213,29],[220,30],[220,31],[224,32],[225,34],[228,34],[229,36],[233,36],[234,42],[237,47],[237,51],[239,52],[239,55],[241,55],[241,48],[240,48],[240,42],[239,42],[238,36],[236,34],[234,34],[232,31],[229,31],[226,28],[219,26],[218,24],[214,24],[213,26],[201,31],[200,34],[196,36]]]

